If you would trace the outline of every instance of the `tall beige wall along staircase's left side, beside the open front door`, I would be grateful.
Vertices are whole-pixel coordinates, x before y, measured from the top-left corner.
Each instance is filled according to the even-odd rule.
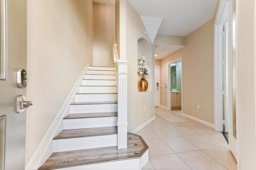
[[[92,0],[28,0],[26,164],[78,76],[92,64]]]

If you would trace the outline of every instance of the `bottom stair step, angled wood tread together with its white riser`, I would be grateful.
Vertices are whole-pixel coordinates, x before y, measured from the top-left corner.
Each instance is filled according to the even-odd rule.
[[[117,146],[110,146],[53,153],[39,170],[91,170],[102,168],[117,170],[129,169],[132,166],[132,169],[134,169],[134,166],[138,166],[136,169],[141,169],[148,162],[148,145],[141,136],[136,134],[128,133],[127,138],[127,149],[117,149]],[[134,159],[138,159],[138,161]],[[127,162],[128,160],[131,160],[131,162]],[[120,167],[120,161],[124,161],[122,167]],[[115,167],[115,164],[118,167]]]

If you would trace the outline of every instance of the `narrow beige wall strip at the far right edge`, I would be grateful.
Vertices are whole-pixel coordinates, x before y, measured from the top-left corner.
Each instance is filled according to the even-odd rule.
[[[238,147],[240,169],[256,167],[254,0],[237,0]],[[245,90],[246,89],[246,90]]]

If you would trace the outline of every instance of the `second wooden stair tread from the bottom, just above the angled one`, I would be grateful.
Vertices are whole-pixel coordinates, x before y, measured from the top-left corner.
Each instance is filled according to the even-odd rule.
[[[96,128],[78,128],[78,129],[67,129],[62,130],[55,138],[66,139],[66,138],[81,138],[89,136],[102,136],[109,134],[117,134],[117,127],[96,127]]]

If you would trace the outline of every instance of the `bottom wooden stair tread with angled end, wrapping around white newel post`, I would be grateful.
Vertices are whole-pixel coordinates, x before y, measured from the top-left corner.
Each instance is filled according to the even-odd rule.
[[[38,170],[52,170],[118,160],[140,158],[148,145],[141,136],[128,133],[127,148],[116,146],[53,153]]]

